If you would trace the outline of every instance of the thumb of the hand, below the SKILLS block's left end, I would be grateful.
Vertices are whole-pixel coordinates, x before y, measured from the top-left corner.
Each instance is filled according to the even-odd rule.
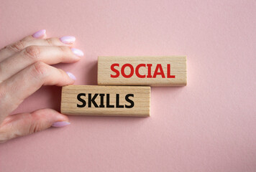
[[[7,116],[0,125],[0,143],[52,127],[69,125],[68,117],[52,109]]]

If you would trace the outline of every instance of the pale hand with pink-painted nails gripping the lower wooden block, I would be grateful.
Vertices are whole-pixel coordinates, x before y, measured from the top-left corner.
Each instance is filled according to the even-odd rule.
[[[75,82],[72,74],[51,66],[81,59],[83,52],[72,48],[74,39],[47,38],[45,30],[40,30],[0,50],[0,143],[51,126],[69,124],[66,115],[52,109],[10,114],[43,85],[63,86]]]

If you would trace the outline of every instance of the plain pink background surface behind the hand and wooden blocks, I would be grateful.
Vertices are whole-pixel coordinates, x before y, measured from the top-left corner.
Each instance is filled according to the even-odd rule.
[[[98,56],[187,55],[186,87],[152,87],[150,118],[70,117],[0,145],[0,171],[256,171],[255,1],[4,1],[0,46],[39,29],[76,36],[76,85]],[[22,83],[21,83],[22,84]],[[42,87],[14,112],[60,110]]]

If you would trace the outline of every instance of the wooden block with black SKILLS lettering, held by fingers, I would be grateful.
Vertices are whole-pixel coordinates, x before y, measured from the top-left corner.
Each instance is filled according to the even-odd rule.
[[[67,115],[150,116],[150,87],[68,85],[61,97]]]

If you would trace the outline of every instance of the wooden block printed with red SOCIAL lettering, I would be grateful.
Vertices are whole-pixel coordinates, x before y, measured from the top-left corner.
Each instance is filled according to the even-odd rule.
[[[186,57],[98,57],[98,85],[186,84]]]

